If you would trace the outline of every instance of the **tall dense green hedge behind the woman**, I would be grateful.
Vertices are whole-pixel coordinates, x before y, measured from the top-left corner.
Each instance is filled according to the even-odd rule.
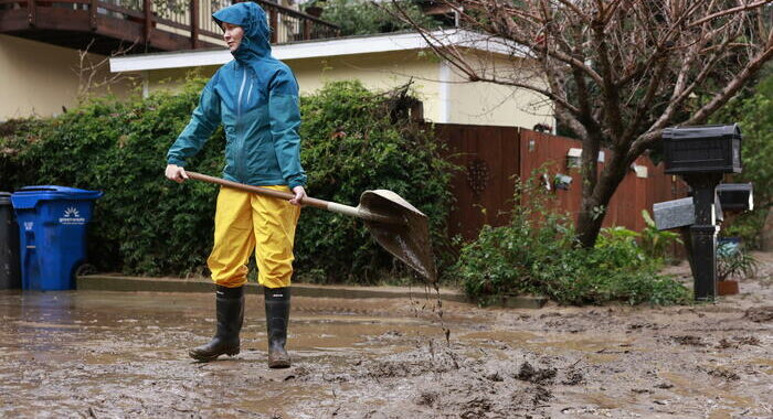
[[[89,259],[99,270],[133,275],[205,275],[216,187],[163,178],[166,152],[183,129],[204,80],[147,99],[102,98],[52,119],[0,125],[0,190],[61,184],[99,190],[89,227]],[[308,192],[356,204],[367,189],[390,189],[432,219],[445,248],[451,166],[433,135],[400,112],[404,90],[371,93],[331,83],[301,99],[301,160]],[[189,168],[220,175],[219,129]],[[404,273],[362,224],[307,208],[296,238],[296,267],[317,281],[374,281]],[[396,271],[395,271],[396,267]]]

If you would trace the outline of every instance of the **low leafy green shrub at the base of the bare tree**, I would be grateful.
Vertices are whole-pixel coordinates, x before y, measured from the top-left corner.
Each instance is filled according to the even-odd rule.
[[[548,210],[549,196],[531,180],[518,184],[515,202],[529,204],[511,213],[507,226],[486,226],[463,247],[455,273],[474,300],[486,304],[501,294],[530,293],[562,304],[621,301],[674,304],[687,290],[657,275],[661,259],[648,257],[637,233],[605,228],[594,248],[575,241],[571,219]]]

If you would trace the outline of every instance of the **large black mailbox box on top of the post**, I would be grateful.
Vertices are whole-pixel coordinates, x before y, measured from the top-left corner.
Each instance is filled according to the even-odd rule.
[[[741,128],[734,125],[663,130],[666,173],[740,173]]]

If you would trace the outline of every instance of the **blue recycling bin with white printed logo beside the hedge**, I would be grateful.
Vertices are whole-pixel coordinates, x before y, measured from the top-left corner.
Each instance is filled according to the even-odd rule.
[[[86,225],[99,191],[25,186],[11,195],[19,223],[21,287],[75,289],[75,269],[86,258]]]

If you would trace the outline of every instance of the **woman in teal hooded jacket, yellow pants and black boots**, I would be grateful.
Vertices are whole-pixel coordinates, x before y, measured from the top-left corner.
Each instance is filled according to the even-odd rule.
[[[289,202],[221,189],[214,219],[214,247],[208,259],[216,284],[218,325],[214,337],[189,351],[208,362],[240,351],[244,319],[246,262],[255,250],[258,282],[265,290],[268,366],[288,367],[285,350],[289,320],[293,241],[306,196],[300,166],[298,84],[293,72],[271,55],[266,14],[256,3],[243,2],[215,12],[234,60],[223,65],[204,87],[191,120],[167,154],[168,179],[183,182],[187,159],[212,131],[225,130],[227,180],[293,191]]]

